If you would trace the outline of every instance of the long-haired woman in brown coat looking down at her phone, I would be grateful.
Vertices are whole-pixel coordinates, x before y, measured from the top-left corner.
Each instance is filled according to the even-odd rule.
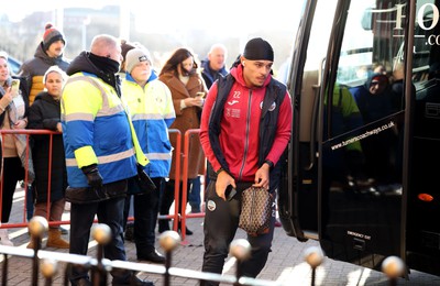
[[[172,91],[174,110],[176,111],[176,120],[170,125],[170,129],[177,129],[180,131],[180,144],[183,150],[185,132],[189,129],[200,128],[198,114],[204,107],[205,100],[198,92],[207,92],[204,78],[200,76],[198,64],[193,53],[187,48],[176,50],[162,68],[158,79]],[[176,134],[170,134],[169,139],[173,147],[176,148]],[[182,157],[183,154],[175,154],[175,152],[173,153],[169,180],[166,184],[166,188],[161,200],[161,215],[169,213],[169,207],[173,205],[174,200],[175,184],[180,184],[180,191],[183,190],[183,184],[187,184],[187,190],[189,193],[193,182],[197,179],[199,174],[202,174],[205,169],[205,156],[197,134],[193,134],[189,140],[187,182],[182,182],[183,167],[177,169],[177,172],[180,172],[180,182],[175,180],[176,156]],[[182,212],[182,201],[179,205]],[[168,221],[160,220],[158,230],[160,232],[169,230]],[[189,229],[186,229],[186,234],[190,235],[193,232]]]

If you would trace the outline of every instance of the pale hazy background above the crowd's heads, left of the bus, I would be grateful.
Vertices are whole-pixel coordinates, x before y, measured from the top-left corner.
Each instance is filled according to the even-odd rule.
[[[286,1],[283,0],[283,2]],[[65,50],[67,58],[74,58],[81,51],[87,50],[96,34],[108,33],[147,45],[154,61],[157,61],[154,63],[157,68],[162,67],[163,59],[167,58],[177,47],[190,46],[196,56],[204,56],[213,43],[223,43],[227,46],[230,54],[227,66],[230,66],[239,51],[242,50],[243,43],[251,37],[262,36],[268,38],[276,51],[277,57],[274,61],[274,72],[276,73],[277,67],[289,56],[290,42],[296,33],[296,25],[282,24],[283,16],[279,14],[273,20],[262,21],[264,25],[262,23],[261,28],[257,23],[245,26],[233,25],[237,22],[237,20],[231,20],[235,18],[233,11],[238,9],[237,6],[244,3],[231,3],[228,8],[230,1],[226,1],[226,7],[221,8],[226,11],[221,24],[216,21],[216,25],[213,25],[204,20],[208,16],[208,10],[206,10],[205,3],[198,4],[199,0],[194,0],[194,6],[183,6],[183,9],[190,9],[190,13],[194,14],[194,18],[190,19],[182,16],[185,13],[179,8],[182,4],[179,2],[173,2],[175,9],[170,9],[169,4],[167,7],[156,2],[145,2],[142,4],[145,7],[103,6],[98,2],[94,1],[87,6],[101,6],[101,8],[65,9],[59,8],[61,3],[57,2],[53,6],[54,10],[31,12],[20,21],[12,19],[12,14],[1,14],[7,11],[3,10],[0,12],[0,34],[2,35],[0,50],[7,51],[19,61],[32,57],[35,46],[43,36],[41,31],[47,22],[53,22],[69,38]],[[292,8],[293,4],[288,6]],[[16,11],[16,13],[19,12]],[[169,13],[173,16],[164,19],[163,15]],[[170,21],[170,19],[175,19],[175,21]]]

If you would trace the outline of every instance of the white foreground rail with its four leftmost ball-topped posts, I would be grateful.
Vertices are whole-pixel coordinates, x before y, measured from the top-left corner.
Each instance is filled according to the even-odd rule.
[[[8,285],[8,270],[10,256],[21,256],[29,258],[32,263],[32,280],[33,286],[38,285],[40,272],[43,274],[45,285],[53,284],[53,277],[61,272],[63,277],[63,285],[69,285],[68,274],[73,265],[82,265],[90,271],[91,285],[101,285],[102,282],[108,280],[109,273],[112,270],[129,270],[134,272],[143,272],[148,274],[158,274],[164,278],[162,285],[172,285],[172,277],[182,277],[194,280],[210,280],[219,282],[227,285],[251,285],[251,286],[279,286],[279,283],[242,277],[240,272],[240,262],[246,260],[251,252],[251,245],[246,240],[240,239],[231,243],[230,254],[233,255],[239,263],[237,263],[237,275],[220,275],[215,273],[204,273],[198,271],[190,271],[185,268],[172,267],[173,251],[179,245],[180,237],[175,231],[166,231],[160,237],[160,244],[165,251],[166,262],[164,266],[151,265],[143,263],[134,263],[128,261],[109,261],[103,258],[103,246],[111,239],[111,231],[107,224],[95,224],[91,230],[92,238],[98,242],[97,257],[59,253],[52,251],[41,250],[42,237],[48,229],[47,220],[43,217],[33,217],[29,223],[29,230],[34,240],[34,249],[22,249],[14,246],[0,245],[0,253],[3,254],[2,265],[2,285]],[[57,263],[65,263],[66,266],[59,270]],[[134,285],[134,282],[133,282]]]

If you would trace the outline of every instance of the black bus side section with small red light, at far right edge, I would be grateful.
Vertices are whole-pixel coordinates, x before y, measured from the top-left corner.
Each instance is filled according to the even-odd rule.
[[[410,268],[440,275],[439,170],[432,167],[440,162],[440,1],[416,3],[405,254]]]

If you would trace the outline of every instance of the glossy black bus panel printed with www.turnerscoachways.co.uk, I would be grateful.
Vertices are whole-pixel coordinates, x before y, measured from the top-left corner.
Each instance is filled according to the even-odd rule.
[[[378,270],[400,255],[405,109],[395,56],[405,3],[337,11],[320,100],[319,233],[330,257]]]

